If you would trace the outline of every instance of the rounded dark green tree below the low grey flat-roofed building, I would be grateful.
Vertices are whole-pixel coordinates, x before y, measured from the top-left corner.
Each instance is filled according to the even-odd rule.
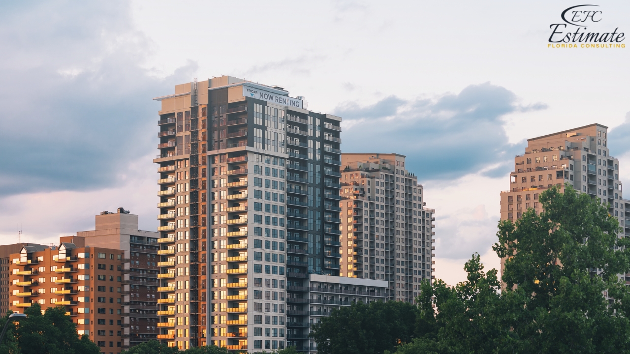
[[[408,302],[358,302],[324,317],[312,338],[322,354],[380,354],[411,341],[417,313]]]

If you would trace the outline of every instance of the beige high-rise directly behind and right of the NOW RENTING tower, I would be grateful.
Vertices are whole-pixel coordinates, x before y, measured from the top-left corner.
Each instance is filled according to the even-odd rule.
[[[341,276],[384,280],[389,299],[413,302],[435,278],[435,210],[405,156],[343,153],[341,162]]]

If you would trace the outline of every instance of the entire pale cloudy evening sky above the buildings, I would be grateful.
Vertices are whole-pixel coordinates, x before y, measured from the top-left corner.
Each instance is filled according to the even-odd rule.
[[[630,174],[630,48],[548,47],[576,4],[0,3],[0,241],[56,244],[118,207],[156,230],[152,98],[231,75],[342,117],[343,151],[406,155],[436,210],[437,278],[465,280],[473,253],[498,268],[500,191],[525,139],[597,122]],[[630,31],[630,3],[593,4],[589,30]]]

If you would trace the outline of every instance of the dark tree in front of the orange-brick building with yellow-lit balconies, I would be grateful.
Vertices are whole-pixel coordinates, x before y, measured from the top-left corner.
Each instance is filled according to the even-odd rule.
[[[42,308],[35,303],[24,311],[15,333],[22,354],[99,354],[100,349],[85,337],[79,339],[76,324],[64,307]]]

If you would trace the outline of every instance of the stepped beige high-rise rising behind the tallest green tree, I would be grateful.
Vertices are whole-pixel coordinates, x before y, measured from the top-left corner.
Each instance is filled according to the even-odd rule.
[[[622,198],[619,159],[610,155],[607,138],[608,127],[591,124],[527,139],[525,154],[514,159],[510,190],[501,191],[501,220],[520,219],[529,208],[541,212],[540,193],[552,186],[564,191],[568,183],[607,205],[624,227],[619,236],[630,236],[627,221],[624,225],[630,219],[625,212],[630,203]]]

